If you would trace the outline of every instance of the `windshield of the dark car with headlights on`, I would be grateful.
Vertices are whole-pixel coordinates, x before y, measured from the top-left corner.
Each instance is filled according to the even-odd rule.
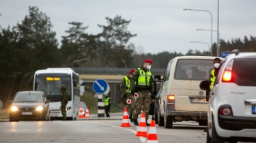
[[[40,93],[17,93],[14,102],[43,102],[43,96]]]

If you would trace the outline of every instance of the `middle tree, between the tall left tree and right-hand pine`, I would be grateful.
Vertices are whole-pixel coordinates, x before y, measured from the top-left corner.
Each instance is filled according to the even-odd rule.
[[[63,61],[66,66],[73,66],[76,61],[88,61],[94,59],[98,52],[97,41],[98,35],[89,35],[85,33],[88,28],[83,27],[82,22],[69,22],[70,27],[66,33],[67,36],[62,36],[61,52]],[[83,67],[83,64],[80,64]]]

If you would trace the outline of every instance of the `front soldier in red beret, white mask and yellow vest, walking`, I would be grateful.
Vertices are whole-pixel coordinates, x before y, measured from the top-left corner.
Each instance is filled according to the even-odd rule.
[[[150,72],[152,63],[153,61],[150,59],[145,59],[144,65],[133,72],[132,78],[130,80],[132,94],[135,92],[139,94],[139,97],[136,99],[136,106],[132,115],[134,125],[139,125],[137,118],[143,107],[146,125],[150,126],[150,124],[147,123],[147,118],[150,112],[151,98],[154,98],[154,94],[152,94],[154,93],[154,80]]]

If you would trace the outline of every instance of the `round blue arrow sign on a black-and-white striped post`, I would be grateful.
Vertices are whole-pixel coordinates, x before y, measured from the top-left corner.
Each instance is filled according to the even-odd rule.
[[[109,88],[106,80],[98,79],[94,81],[93,84],[94,91],[98,93],[98,117],[104,117],[104,102],[102,98],[102,93],[105,93]]]

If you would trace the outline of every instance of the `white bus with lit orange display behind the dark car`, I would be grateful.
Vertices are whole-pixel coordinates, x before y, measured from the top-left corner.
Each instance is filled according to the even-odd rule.
[[[33,91],[43,91],[50,100],[50,120],[62,118],[61,114],[61,85],[68,91],[66,115],[68,120],[76,120],[79,115],[80,87],[79,74],[70,68],[48,68],[35,72]]]

